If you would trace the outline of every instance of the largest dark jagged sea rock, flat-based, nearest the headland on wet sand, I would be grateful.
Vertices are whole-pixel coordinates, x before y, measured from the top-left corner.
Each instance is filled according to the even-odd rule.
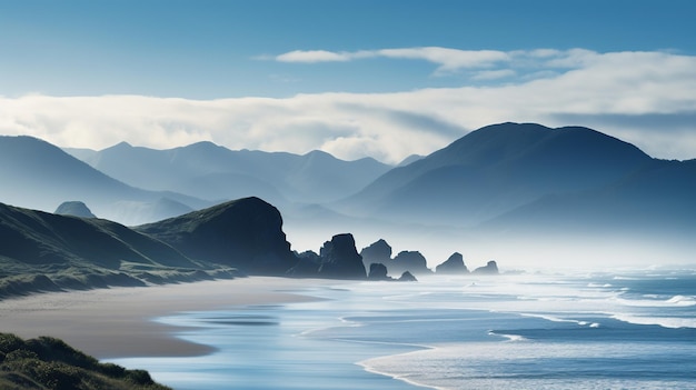
[[[356,249],[352,234],[336,234],[319,251],[321,263],[318,277],[331,279],[366,279],[362,258]]]

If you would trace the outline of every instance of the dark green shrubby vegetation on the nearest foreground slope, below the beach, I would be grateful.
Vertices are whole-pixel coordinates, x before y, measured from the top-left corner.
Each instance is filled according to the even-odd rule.
[[[40,337],[23,340],[0,333],[0,389],[91,390],[169,389],[143,370],[100,363],[62,340]]]

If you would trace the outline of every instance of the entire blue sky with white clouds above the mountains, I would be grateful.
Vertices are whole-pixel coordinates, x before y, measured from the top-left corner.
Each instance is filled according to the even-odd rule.
[[[696,1],[0,0],[0,134],[398,163],[499,122],[696,158]]]

